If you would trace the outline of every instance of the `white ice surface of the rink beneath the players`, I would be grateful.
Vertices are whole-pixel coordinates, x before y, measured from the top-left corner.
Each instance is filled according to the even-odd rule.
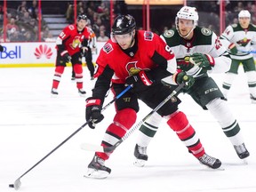
[[[54,68],[0,68],[0,191],[57,147],[85,123],[84,98],[70,81],[66,68],[60,95],[51,98]],[[240,71],[241,72],[241,71]],[[213,76],[221,85],[223,75]],[[87,97],[95,81],[84,68]],[[244,164],[208,111],[187,95],[180,95],[184,111],[204,144],[206,152],[220,158],[225,171],[199,164],[164,123],[148,147],[148,163],[134,167],[136,132],[119,146],[106,165],[112,169],[106,180],[84,178],[93,152],[81,143],[99,144],[114,116],[114,105],[104,111],[105,119],[95,130],[85,126],[52,155],[21,178],[24,192],[255,192],[256,191],[256,104],[251,104],[246,78],[241,73],[230,90],[228,106],[236,116],[251,156]],[[105,101],[112,100],[111,93]],[[138,122],[150,109],[140,103]]]

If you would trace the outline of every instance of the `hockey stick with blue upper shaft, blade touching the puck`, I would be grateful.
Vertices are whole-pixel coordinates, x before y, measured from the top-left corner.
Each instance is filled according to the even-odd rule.
[[[132,85],[127,86],[123,92],[120,92],[113,100],[111,100],[110,102],[108,102],[108,104],[101,109],[101,112],[103,112],[106,108],[108,108],[113,102],[115,102],[116,100],[118,100],[120,97],[122,97],[124,95],[125,92],[128,92],[130,89],[132,88]],[[9,185],[9,188],[15,188],[16,190],[18,190],[21,186],[21,182],[20,179],[25,176],[28,172],[30,172],[32,169],[34,169],[38,164],[40,164],[41,162],[44,161],[45,158],[47,158],[48,156],[50,156],[55,150],[57,150],[58,148],[60,148],[60,146],[62,146],[64,143],[66,143],[69,139],[71,139],[77,132],[80,132],[84,126],[86,126],[87,124],[89,124],[89,122],[92,121],[92,119],[89,119],[88,121],[86,121],[82,126],[80,126],[76,132],[73,132],[71,135],[68,136],[68,138],[66,140],[63,140],[56,148],[53,148],[52,151],[50,153],[48,153],[46,156],[44,156],[40,161],[38,161],[36,164],[34,164],[31,168],[28,169],[27,172],[24,172],[17,180],[14,181],[13,184]]]

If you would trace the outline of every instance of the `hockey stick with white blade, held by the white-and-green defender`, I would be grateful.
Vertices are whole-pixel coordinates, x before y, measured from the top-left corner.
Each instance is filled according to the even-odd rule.
[[[138,128],[140,128],[140,125],[143,124],[150,116],[152,116],[159,108],[162,108],[164,106],[164,104],[168,101],[171,100],[172,97],[177,93],[180,92],[180,89],[183,88],[185,84],[182,83],[180,84],[178,87],[176,87],[175,90],[172,91],[172,93],[165,98],[161,103],[158,104],[158,106],[156,106],[156,108],[154,108],[153,110],[150,111],[150,113],[148,113],[147,116],[145,116],[142,120],[140,120],[140,122],[138,124],[135,124],[128,132],[126,132],[123,136],[123,138],[121,140],[118,140],[116,142],[115,145],[111,146],[111,147],[107,147],[104,148],[103,146],[97,146],[97,145],[92,145],[92,144],[88,144],[88,143],[82,143],[80,148],[84,149],[84,150],[91,150],[91,151],[99,151],[99,152],[112,152],[113,150],[115,150],[124,140],[126,140],[131,134],[132,132],[134,132],[135,130],[137,130]]]

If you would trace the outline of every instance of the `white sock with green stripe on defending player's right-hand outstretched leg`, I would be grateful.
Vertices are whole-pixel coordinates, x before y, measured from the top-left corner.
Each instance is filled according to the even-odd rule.
[[[217,98],[210,101],[206,107],[212,113],[212,116],[217,119],[222,131],[233,145],[240,145],[244,142],[242,133],[240,132],[240,126],[228,108],[226,101]]]

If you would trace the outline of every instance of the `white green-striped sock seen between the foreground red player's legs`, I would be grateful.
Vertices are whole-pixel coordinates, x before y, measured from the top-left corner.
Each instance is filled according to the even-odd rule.
[[[153,139],[157,132],[161,120],[162,116],[155,113],[140,126],[140,132],[138,132],[136,142],[140,147],[148,147],[149,142]]]

